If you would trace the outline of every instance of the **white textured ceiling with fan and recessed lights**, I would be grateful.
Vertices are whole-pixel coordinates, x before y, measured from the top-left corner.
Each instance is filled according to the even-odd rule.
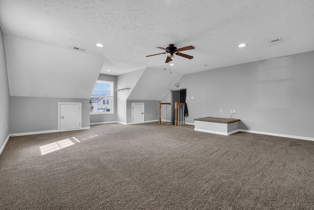
[[[102,73],[169,68],[156,47],[193,45],[182,74],[314,50],[313,0],[0,0],[4,34],[104,57]],[[283,42],[270,45],[269,40]],[[96,47],[96,43],[105,45]],[[238,48],[246,43],[244,48]],[[207,66],[205,66],[207,65]],[[106,70],[111,70],[107,72]]]

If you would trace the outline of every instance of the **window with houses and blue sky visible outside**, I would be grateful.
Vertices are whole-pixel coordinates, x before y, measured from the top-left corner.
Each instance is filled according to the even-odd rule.
[[[97,80],[89,100],[89,113],[113,113],[113,82]]]

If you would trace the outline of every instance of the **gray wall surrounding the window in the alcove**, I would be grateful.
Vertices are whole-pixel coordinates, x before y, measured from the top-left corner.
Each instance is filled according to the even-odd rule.
[[[117,77],[112,75],[100,74],[99,80],[113,81],[113,89],[117,89]],[[95,81],[96,83],[96,81]],[[90,115],[90,123],[112,122],[117,119],[117,91],[113,91],[113,114]]]

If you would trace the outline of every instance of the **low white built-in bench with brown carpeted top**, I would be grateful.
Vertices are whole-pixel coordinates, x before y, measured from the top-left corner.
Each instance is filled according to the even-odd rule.
[[[239,131],[238,119],[228,118],[196,118],[194,119],[194,130],[207,133],[215,133],[220,135],[229,136]]]

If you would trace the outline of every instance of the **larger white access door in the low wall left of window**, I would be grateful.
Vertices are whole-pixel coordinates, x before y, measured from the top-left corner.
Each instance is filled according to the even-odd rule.
[[[81,103],[59,103],[60,130],[75,130],[81,127]]]

